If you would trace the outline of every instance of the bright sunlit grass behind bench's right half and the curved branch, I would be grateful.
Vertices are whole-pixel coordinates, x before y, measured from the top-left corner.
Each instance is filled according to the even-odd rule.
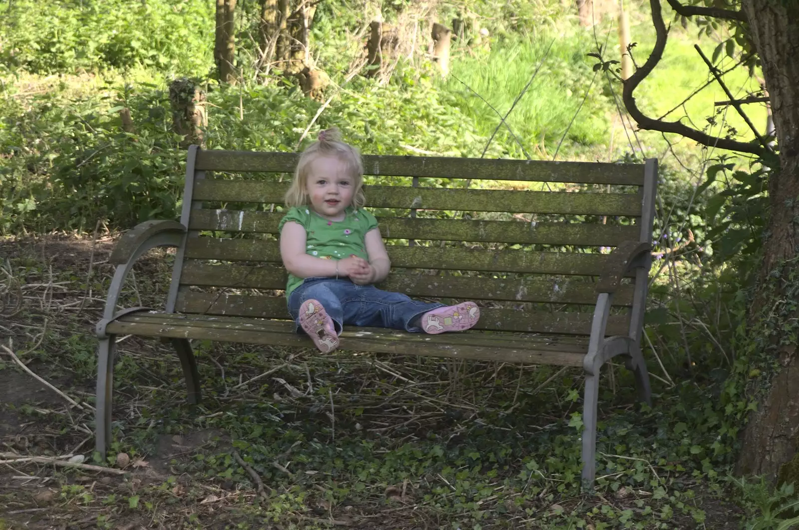
[[[668,21],[671,17],[671,11],[666,8],[664,18]],[[640,65],[646,61],[655,40],[648,4],[635,6],[631,18],[632,41],[638,43],[634,48],[634,58]],[[530,38],[521,38],[519,42],[495,44],[490,53],[474,54],[455,50],[451,64],[453,75],[439,82],[439,87],[451,94],[453,105],[474,121],[479,133],[490,136],[499,124],[499,116],[488,104],[504,115],[552,42],[543,67],[527,93],[519,100],[507,123],[533,158],[551,158],[562,134],[568,129],[559,159],[613,160],[623,153],[637,151],[638,146],[631,148],[625,133],[619,129],[618,110],[606,77],[599,74],[591,85],[594,76],[591,67],[596,60],[586,54],[595,51],[595,42],[601,42],[606,49],[606,60],[619,58],[615,23],[614,19],[606,18],[594,31],[578,28],[566,21],[559,27],[560,34],[551,35],[551,31],[545,30]],[[680,106],[685,98],[710,78],[705,63],[694,50],[694,43],[702,46],[705,54],[711,57],[718,42],[709,37],[698,39],[697,32],[695,26],[689,26],[687,30],[673,27],[662,60],[638,86],[635,92],[638,106],[650,117],[660,118],[675,106]],[[721,58],[722,69],[731,64],[731,59]],[[737,98],[744,97],[747,91],[757,90],[757,82],[741,68],[726,74],[724,81]],[[463,84],[485,98],[488,104]],[[621,104],[621,85],[614,80],[611,86]],[[586,92],[586,102],[574,118]],[[686,102],[685,110],[679,108],[665,119],[682,120],[690,125],[685,118],[687,114],[694,126],[702,130],[708,126],[706,118],[712,117],[716,110],[724,109],[715,107],[714,102],[725,99],[727,97],[721,86],[714,81]],[[747,105],[745,112],[763,133],[765,107],[761,104]],[[569,126],[572,118],[574,123]],[[708,130],[709,133],[725,136],[730,126],[737,130],[739,140],[747,141],[753,137],[749,127],[732,107],[726,108],[725,114],[718,116],[717,123],[717,126]],[[613,133],[611,130],[614,130]],[[611,140],[612,136],[615,136],[614,140]],[[668,145],[660,133],[639,131],[638,137],[643,142],[646,156],[668,160]],[[697,168],[701,165],[705,156],[701,146],[676,135],[670,135],[669,139],[677,144],[674,151],[682,161]],[[523,150],[504,127],[500,128],[495,141],[503,145],[506,156],[524,157]],[[635,144],[631,133],[630,141]]]

